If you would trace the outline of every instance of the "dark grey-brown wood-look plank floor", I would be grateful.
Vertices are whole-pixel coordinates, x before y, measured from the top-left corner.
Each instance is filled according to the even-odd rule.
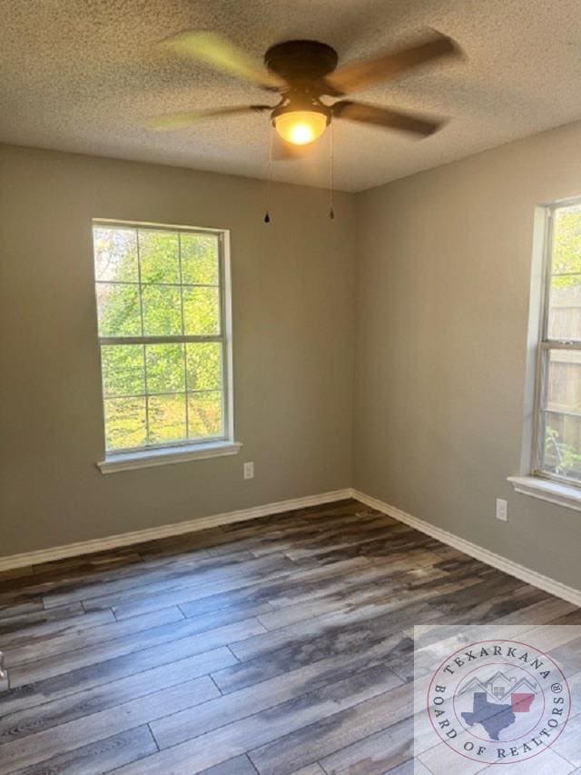
[[[354,501],[6,571],[0,619],[27,775],[411,773],[414,624],[581,623]]]

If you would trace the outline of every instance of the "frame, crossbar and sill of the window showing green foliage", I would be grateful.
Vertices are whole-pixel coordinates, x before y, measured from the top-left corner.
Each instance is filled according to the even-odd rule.
[[[101,375],[101,400],[103,412],[103,462],[97,463],[103,473],[116,470],[126,470],[150,466],[156,464],[165,464],[168,462],[182,462],[185,460],[195,460],[204,457],[215,457],[223,454],[234,454],[241,448],[241,444],[234,441],[234,406],[233,406],[233,380],[232,380],[232,325],[231,325],[231,256],[230,256],[230,232],[227,229],[205,228],[200,226],[177,225],[177,224],[157,224],[143,221],[124,221],[110,218],[93,218],[91,224],[93,261],[94,261],[94,228],[99,226],[109,228],[129,228],[136,232],[139,229],[155,230],[157,232],[169,233],[187,233],[187,234],[213,234],[218,243],[218,266],[219,266],[219,301],[220,301],[220,333],[217,334],[166,334],[166,335],[130,335],[130,336],[102,336],[97,328],[97,347],[99,357],[99,371]],[[139,241],[137,242],[139,245]],[[138,247],[139,250],[139,247]],[[180,252],[180,267],[182,259]],[[138,260],[138,267],[140,267]],[[182,281],[180,271],[180,281]],[[96,292],[99,282],[94,276],[94,295],[95,311],[97,309]],[[106,281],[103,281],[106,282]],[[131,283],[137,284],[137,283]],[[147,283],[141,281],[141,267],[139,268],[140,288],[140,318],[143,332],[143,302],[141,299],[141,289]],[[174,283],[157,283],[171,284]],[[183,283],[175,283],[180,289]],[[185,283],[188,286],[189,283]],[[195,284],[192,287],[197,286]],[[183,319],[183,303],[182,303]],[[203,343],[215,342],[222,345],[222,434],[218,436],[208,436],[201,439],[183,439],[175,442],[145,444],[139,447],[123,448],[119,450],[106,449],[106,422],[105,422],[105,395],[103,391],[103,360],[102,348],[106,345],[114,344],[163,344],[163,343]],[[146,399],[147,412],[147,384],[145,386],[144,397]],[[187,385],[185,385],[185,402],[187,407]],[[147,421],[146,421],[147,422]],[[149,432],[149,430],[148,430]]]

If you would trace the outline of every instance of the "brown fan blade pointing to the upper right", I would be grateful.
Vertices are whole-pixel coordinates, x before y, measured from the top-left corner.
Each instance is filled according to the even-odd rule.
[[[389,81],[412,67],[425,65],[445,56],[460,55],[461,49],[452,38],[434,30],[432,35],[420,40],[416,45],[340,67],[335,73],[326,76],[325,83],[334,89],[335,94],[350,94],[380,81]]]

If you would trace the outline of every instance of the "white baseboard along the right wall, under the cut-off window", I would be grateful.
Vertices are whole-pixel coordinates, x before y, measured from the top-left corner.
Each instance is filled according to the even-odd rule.
[[[416,530],[419,530],[420,532],[426,533],[431,538],[435,538],[442,543],[448,544],[448,546],[453,546],[454,549],[458,549],[458,551],[469,554],[470,557],[474,557],[476,560],[486,562],[487,565],[497,568],[498,571],[504,571],[509,576],[514,576],[519,581],[526,581],[528,584],[532,584],[532,586],[537,587],[539,590],[546,591],[551,595],[555,595],[557,598],[561,598],[562,600],[573,603],[573,605],[581,607],[581,590],[576,590],[574,587],[567,587],[566,584],[551,579],[549,576],[544,576],[542,573],[532,571],[530,568],[519,565],[512,560],[507,560],[506,557],[495,554],[494,551],[488,551],[482,546],[478,546],[477,543],[472,543],[460,538],[453,532],[442,530],[429,522],[419,520],[418,517],[412,517],[411,514],[402,512],[395,506],[390,506],[389,503],[378,501],[377,498],[372,498],[364,492],[353,490],[351,492],[351,497],[365,503],[366,506],[370,506],[372,509],[377,509],[379,512],[389,514],[390,517],[399,520],[399,522],[404,522],[409,525],[409,527],[416,528]]]

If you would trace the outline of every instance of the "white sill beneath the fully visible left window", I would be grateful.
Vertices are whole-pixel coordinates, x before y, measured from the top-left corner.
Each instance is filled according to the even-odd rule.
[[[136,468],[151,468],[154,465],[235,455],[240,452],[241,446],[240,442],[206,442],[182,447],[143,450],[143,452],[120,452],[98,462],[97,467],[101,473],[133,471]]]

